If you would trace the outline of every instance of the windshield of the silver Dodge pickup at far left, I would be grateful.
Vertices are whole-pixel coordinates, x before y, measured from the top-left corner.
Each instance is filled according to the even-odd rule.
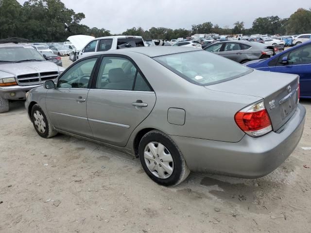
[[[18,62],[24,60],[45,61],[44,57],[32,48],[4,47],[0,48],[0,62]]]

